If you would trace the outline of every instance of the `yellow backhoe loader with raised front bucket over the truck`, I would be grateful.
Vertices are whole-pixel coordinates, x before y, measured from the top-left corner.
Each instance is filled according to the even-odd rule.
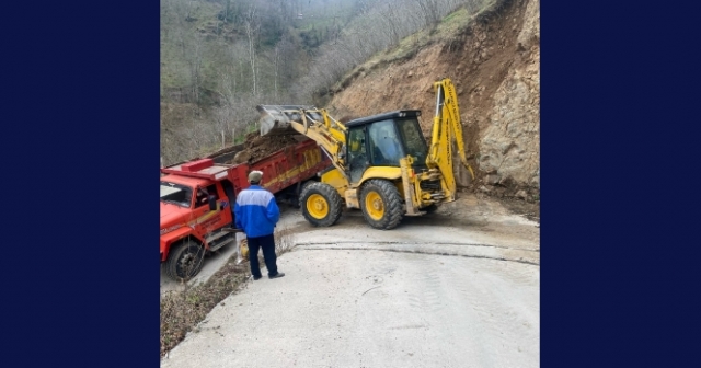
[[[456,199],[452,141],[462,164],[468,164],[460,112],[450,79],[434,83],[436,114],[430,145],[426,145],[421,111],[402,110],[342,124],[325,110],[301,105],[260,105],[261,135],[289,134],[290,129],[319,145],[333,168],[320,182],[300,192],[304,218],[318,227],[334,225],[343,206],[360,208],[376,229],[397,227],[404,216],[421,216]]]

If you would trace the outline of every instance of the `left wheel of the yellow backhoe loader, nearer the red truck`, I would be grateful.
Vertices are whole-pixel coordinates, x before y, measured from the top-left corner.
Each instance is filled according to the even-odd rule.
[[[329,227],[338,221],[343,211],[341,195],[333,186],[324,183],[304,185],[299,197],[302,215],[315,227]]]

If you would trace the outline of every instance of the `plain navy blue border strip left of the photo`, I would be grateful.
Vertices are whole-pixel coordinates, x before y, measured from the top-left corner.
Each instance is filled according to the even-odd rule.
[[[3,15],[0,365],[154,367],[159,2]]]

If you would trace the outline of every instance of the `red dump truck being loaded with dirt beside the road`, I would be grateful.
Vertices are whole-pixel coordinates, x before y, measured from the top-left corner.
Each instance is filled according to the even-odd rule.
[[[253,170],[276,198],[294,203],[307,181],[318,180],[331,161],[313,140],[276,151],[256,162],[228,164],[242,149],[234,146],[161,169],[161,264],[175,280],[195,276],[205,254],[235,242],[232,206],[249,186]]]

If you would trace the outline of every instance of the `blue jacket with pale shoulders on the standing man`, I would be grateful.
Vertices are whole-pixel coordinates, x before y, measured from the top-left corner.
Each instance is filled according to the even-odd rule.
[[[258,238],[275,231],[280,209],[271,192],[251,185],[239,193],[233,215],[237,218],[237,228],[242,229],[246,237]]]

